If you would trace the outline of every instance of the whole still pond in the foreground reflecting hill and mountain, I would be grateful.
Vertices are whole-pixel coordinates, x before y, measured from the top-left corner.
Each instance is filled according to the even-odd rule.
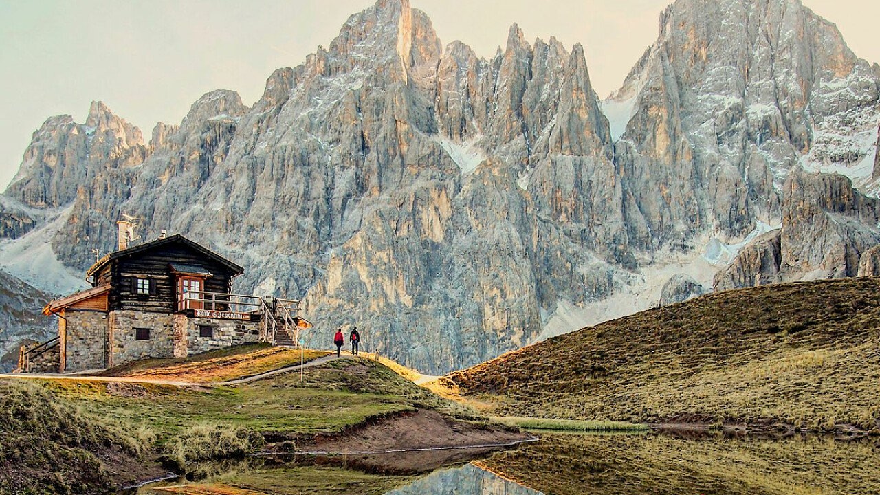
[[[541,434],[502,452],[253,458],[136,495],[880,493],[880,442],[706,433]]]

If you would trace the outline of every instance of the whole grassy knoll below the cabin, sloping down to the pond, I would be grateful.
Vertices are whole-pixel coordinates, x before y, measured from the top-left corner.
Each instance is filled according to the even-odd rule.
[[[325,354],[306,352],[306,359]],[[289,451],[419,410],[436,411],[440,423],[453,426],[484,421],[367,358],[310,367],[303,381],[295,372],[234,387],[199,385],[299,359],[299,351],[250,345],[102,373],[194,382],[186,386],[90,377],[0,380],[0,493],[106,491],[163,474],[162,464],[186,471],[194,462],[262,448]]]

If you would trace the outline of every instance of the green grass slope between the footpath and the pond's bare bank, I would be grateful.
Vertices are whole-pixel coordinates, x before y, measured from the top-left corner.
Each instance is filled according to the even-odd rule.
[[[334,365],[346,362],[355,364],[342,360]],[[374,373],[382,370],[377,367]],[[414,403],[385,389],[394,384],[385,383],[384,377],[370,388],[363,388],[362,380],[350,377],[344,368],[316,366],[306,370],[305,377],[304,384],[299,373],[290,373],[203,390],[99,381],[53,381],[49,386],[100,416],[150,425],[160,441],[205,422],[264,433],[341,432],[369,417],[415,409]],[[349,388],[346,381],[357,386]]]

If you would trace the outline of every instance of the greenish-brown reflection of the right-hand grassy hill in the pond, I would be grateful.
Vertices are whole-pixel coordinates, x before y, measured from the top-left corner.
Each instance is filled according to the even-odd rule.
[[[478,462],[554,495],[880,493],[876,440],[550,435]]]

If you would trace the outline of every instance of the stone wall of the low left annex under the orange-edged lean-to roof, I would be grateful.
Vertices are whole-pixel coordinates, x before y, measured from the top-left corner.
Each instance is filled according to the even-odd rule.
[[[106,365],[107,315],[95,311],[64,312],[63,372],[103,369]]]

